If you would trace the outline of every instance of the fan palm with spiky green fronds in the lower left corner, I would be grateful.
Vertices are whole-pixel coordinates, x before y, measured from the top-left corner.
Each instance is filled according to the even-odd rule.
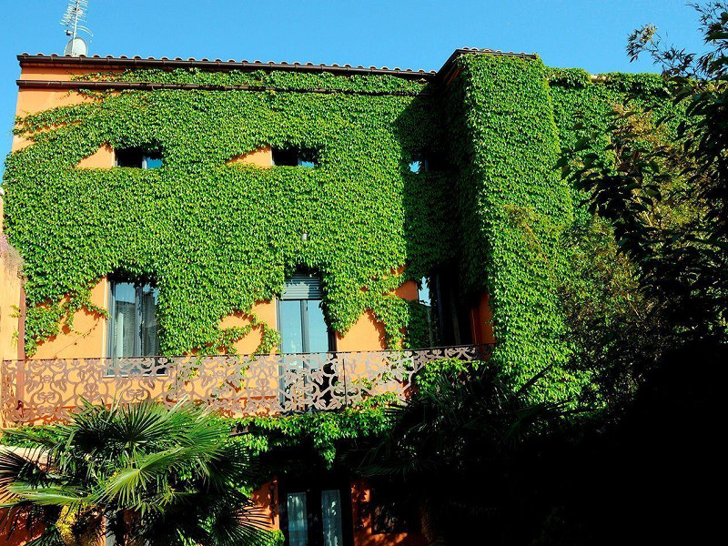
[[[253,481],[229,427],[188,403],[86,403],[69,424],[8,430],[32,446],[0,452],[10,533],[44,530],[27,546],[266,543],[264,519],[240,489]]]

